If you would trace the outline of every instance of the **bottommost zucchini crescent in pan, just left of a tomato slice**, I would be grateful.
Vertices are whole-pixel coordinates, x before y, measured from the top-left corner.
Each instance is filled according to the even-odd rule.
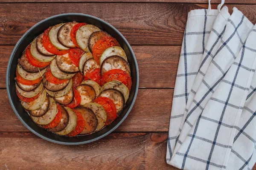
[[[68,108],[68,107],[64,107],[68,113],[69,116],[69,121],[67,123],[67,126],[58,132],[55,132],[59,135],[67,135],[68,133],[72,132],[77,125],[77,117],[76,117],[76,113],[74,111],[72,111],[72,109]]]

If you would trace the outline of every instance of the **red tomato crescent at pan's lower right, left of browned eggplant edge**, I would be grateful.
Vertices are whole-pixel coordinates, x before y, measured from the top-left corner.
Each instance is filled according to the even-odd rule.
[[[116,105],[114,104],[114,102],[108,97],[98,97],[94,100],[94,102],[99,103],[103,106],[103,108],[107,112],[107,120],[105,125],[110,125],[117,117]]]

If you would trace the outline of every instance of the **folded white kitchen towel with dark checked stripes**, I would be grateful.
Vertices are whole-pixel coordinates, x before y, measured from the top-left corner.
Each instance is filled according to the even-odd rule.
[[[220,8],[190,11],[186,24],[166,154],[180,169],[256,162],[256,27]]]

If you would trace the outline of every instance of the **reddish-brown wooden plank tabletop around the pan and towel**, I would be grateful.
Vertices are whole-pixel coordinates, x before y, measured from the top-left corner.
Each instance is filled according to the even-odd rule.
[[[0,0],[0,169],[175,170],[165,157],[180,45],[188,12],[207,8],[208,0],[63,1]],[[212,8],[220,1],[213,0]],[[236,6],[256,22],[256,0],[226,4],[230,12]],[[115,26],[131,44],[140,71],[139,93],[127,119],[110,135],[79,146],[54,144],[31,133],[15,116],[6,93],[6,67],[20,37],[39,21],[68,12]]]

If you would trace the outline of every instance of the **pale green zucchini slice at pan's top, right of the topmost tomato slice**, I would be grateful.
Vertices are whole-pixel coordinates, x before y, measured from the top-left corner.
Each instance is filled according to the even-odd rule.
[[[89,37],[93,32],[100,31],[100,29],[96,26],[93,25],[85,25],[81,26],[77,31],[76,31],[76,41],[79,47],[84,50],[89,52],[89,47],[88,47],[88,41]]]

